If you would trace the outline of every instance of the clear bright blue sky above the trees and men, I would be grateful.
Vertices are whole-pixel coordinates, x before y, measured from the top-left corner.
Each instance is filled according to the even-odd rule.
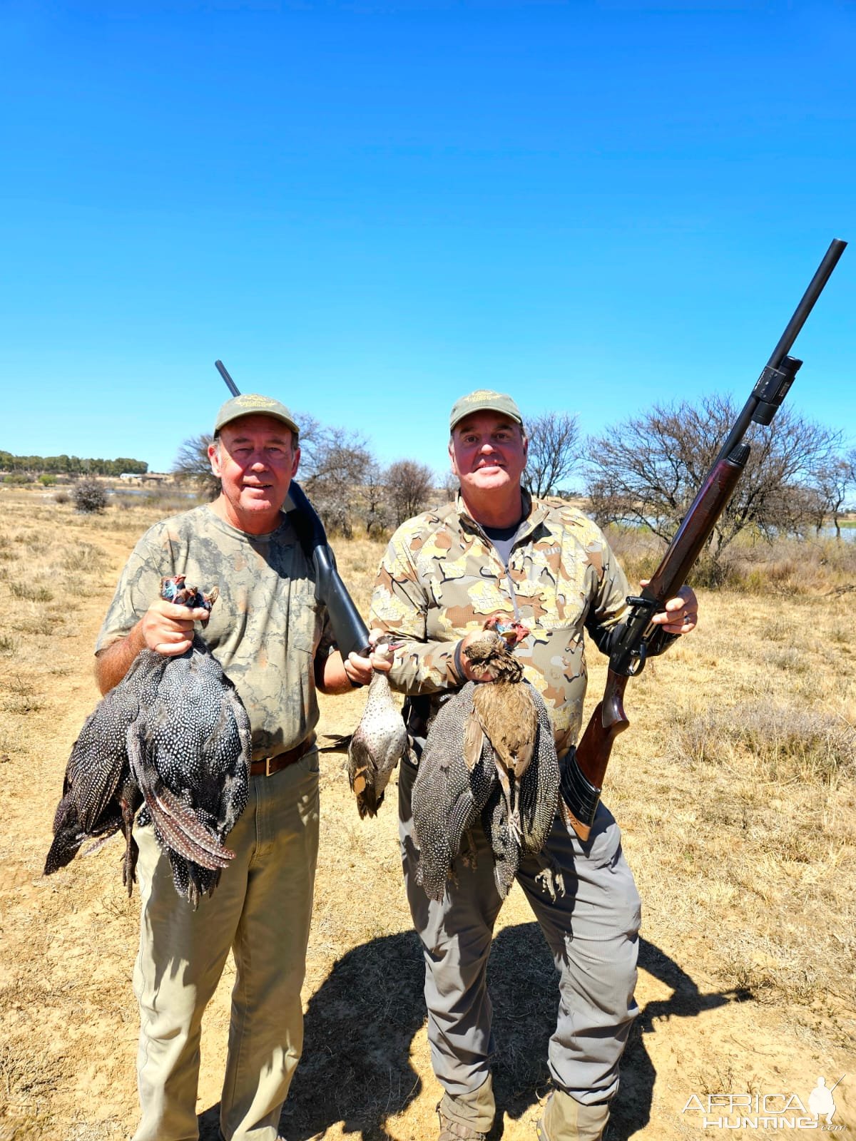
[[[168,469],[244,390],[445,466],[749,395],[856,242],[850,2],[0,8],[0,448]],[[789,397],[856,444],[856,245]]]

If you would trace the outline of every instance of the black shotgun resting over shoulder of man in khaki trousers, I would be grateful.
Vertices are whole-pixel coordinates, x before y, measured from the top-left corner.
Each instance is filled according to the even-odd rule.
[[[223,361],[215,361],[215,367],[226,381],[226,387],[232,395],[240,396],[237,385],[229,377]],[[300,545],[315,567],[315,597],[328,608],[341,656],[347,658],[348,654],[354,650],[362,657],[366,657],[369,654],[369,631],[360,617],[360,610],[354,605],[347,586],[336,569],[336,560],[326,541],[324,525],[306,497],[302,487],[293,479],[289,487],[289,497],[294,505],[292,521]]]

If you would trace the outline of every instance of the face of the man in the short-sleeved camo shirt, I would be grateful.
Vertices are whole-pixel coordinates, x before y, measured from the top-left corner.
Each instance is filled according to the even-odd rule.
[[[208,458],[223,483],[229,521],[242,531],[264,534],[268,524],[276,526],[300,448],[281,420],[264,414],[233,420],[219,438],[219,448],[212,444]]]

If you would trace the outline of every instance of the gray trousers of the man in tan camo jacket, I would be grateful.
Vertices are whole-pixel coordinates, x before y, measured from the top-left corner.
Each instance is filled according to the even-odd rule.
[[[476,867],[455,864],[442,903],[415,879],[411,793],[415,768],[402,762],[399,835],[407,899],[425,947],[425,997],[434,1073],[447,1093],[463,1097],[484,1085],[493,1052],[487,957],[502,900],[484,832],[473,831]],[[640,922],[639,893],[621,851],[621,833],[601,804],[586,844],[556,818],[547,842],[565,876],[555,903],[535,876],[538,860],[520,863],[517,881],[560,972],[559,1011],[549,1066],[559,1090],[583,1104],[608,1101],[619,1085],[619,1060],[638,1006],[633,1000]],[[491,1120],[475,1127],[486,1132]]]

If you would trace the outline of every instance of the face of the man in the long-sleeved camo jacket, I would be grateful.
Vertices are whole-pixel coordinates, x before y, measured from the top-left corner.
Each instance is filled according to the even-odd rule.
[[[467,493],[515,491],[526,467],[528,440],[516,420],[500,412],[474,412],[455,424],[449,443],[452,471]]]

